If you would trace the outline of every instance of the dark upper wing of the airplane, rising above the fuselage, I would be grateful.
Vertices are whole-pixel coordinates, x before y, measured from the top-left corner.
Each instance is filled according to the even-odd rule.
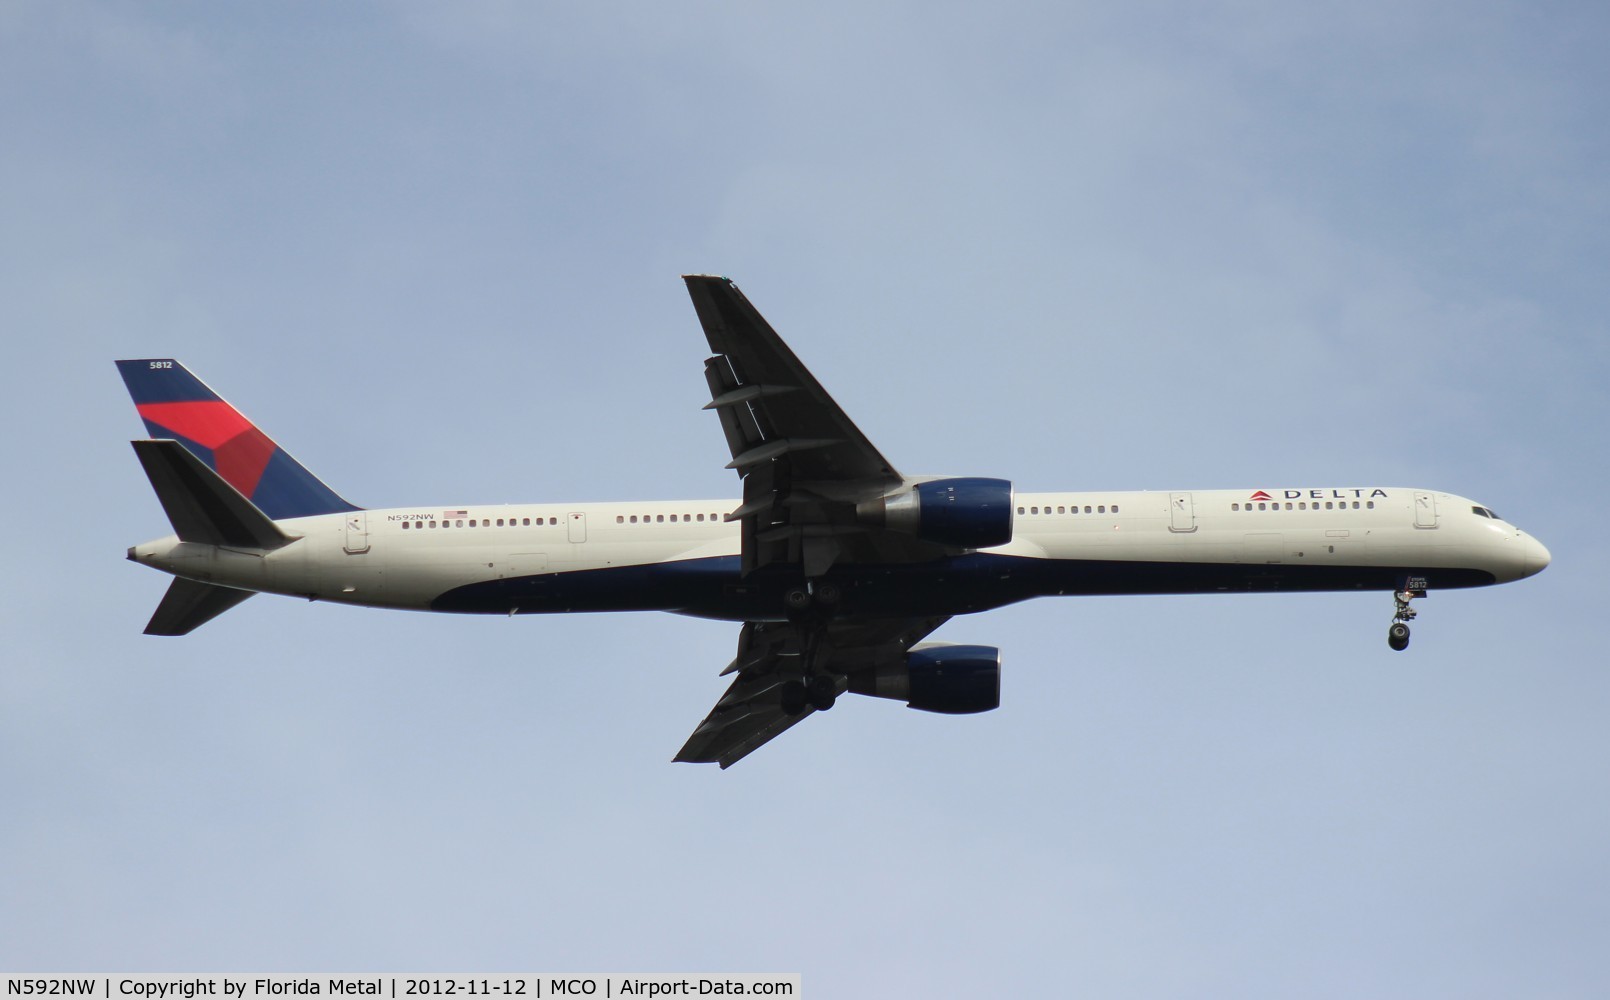
[[[744,502],[744,573],[770,564],[815,578],[834,562],[914,562],[939,546],[869,528],[855,504],[905,480],[724,277],[683,275],[713,356],[705,382]]]

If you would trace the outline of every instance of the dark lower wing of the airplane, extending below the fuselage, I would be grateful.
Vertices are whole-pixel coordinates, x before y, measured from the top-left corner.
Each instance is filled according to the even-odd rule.
[[[815,630],[789,622],[747,622],[737,639],[737,655],[723,671],[737,673],[737,678],[675,760],[720,763],[726,770],[813,715],[816,710],[810,705],[792,715],[782,705],[784,686],[803,675],[808,644],[816,646],[811,651],[816,668],[836,678],[837,694],[844,694],[844,675],[900,660],[945,622],[943,615],[834,622]]]

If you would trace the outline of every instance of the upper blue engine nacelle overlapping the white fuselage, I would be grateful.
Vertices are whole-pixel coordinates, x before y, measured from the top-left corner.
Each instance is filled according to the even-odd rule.
[[[955,478],[918,483],[905,493],[857,507],[863,522],[923,541],[987,549],[1011,541],[1011,483]]]

